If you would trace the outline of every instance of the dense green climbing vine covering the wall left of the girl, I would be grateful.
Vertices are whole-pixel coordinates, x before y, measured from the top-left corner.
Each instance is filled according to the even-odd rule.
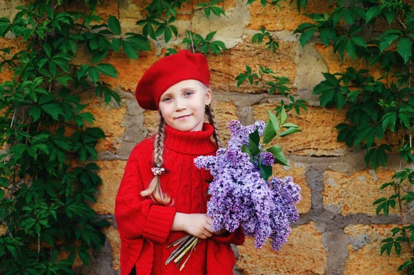
[[[75,259],[88,265],[92,249],[105,242],[90,205],[97,175],[101,128],[87,127],[94,116],[82,94],[106,104],[119,95],[103,81],[117,70],[102,60],[122,48],[137,59],[150,50],[141,34],[121,34],[112,15],[97,16],[97,1],[86,12],[66,11],[75,1],[31,1],[10,20],[0,18],[0,37],[14,37],[20,50],[0,49],[0,271],[5,274],[73,274]],[[75,63],[79,47],[90,60]],[[19,47],[13,47],[19,48]]]

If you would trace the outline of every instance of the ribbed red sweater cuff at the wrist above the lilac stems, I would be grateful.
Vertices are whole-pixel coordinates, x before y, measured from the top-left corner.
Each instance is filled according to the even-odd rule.
[[[152,205],[142,236],[157,243],[166,243],[175,212],[175,207]]]

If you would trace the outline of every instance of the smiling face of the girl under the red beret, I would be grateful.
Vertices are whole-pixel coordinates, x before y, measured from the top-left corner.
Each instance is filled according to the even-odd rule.
[[[159,111],[176,130],[203,130],[205,106],[211,102],[211,90],[202,83],[187,79],[170,86],[159,99]]]

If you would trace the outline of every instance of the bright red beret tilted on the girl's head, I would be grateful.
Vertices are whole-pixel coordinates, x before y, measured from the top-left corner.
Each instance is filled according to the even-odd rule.
[[[158,110],[161,95],[170,86],[186,79],[195,79],[210,86],[210,70],[204,54],[180,50],[151,65],[139,79],[135,98],[141,108]]]

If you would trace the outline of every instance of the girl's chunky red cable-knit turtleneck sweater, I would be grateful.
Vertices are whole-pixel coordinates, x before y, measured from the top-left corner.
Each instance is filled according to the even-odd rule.
[[[132,150],[115,203],[121,237],[121,275],[128,275],[134,265],[137,274],[233,274],[235,255],[230,243],[244,243],[241,227],[231,234],[201,240],[181,272],[175,263],[165,265],[175,249],[168,249],[167,245],[186,235],[186,232],[170,232],[175,213],[206,213],[206,180],[212,177],[208,171],[197,169],[193,160],[199,155],[215,154],[217,145],[210,139],[213,131],[209,123],[204,123],[202,131],[193,132],[166,126],[163,157],[164,167],[170,172],[162,174],[160,180],[163,192],[175,201],[172,206],[157,205],[139,194],[153,178],[150,161],[154,136]]]

